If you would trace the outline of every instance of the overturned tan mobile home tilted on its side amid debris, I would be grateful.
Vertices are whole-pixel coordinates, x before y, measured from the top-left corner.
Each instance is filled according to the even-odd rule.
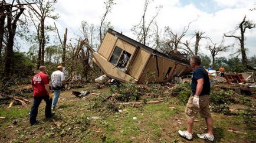
[[[122,82],[163,83],[192,71],[181,53],[165,55],[112,29],[93,53],[93,61],[107,76]]]

